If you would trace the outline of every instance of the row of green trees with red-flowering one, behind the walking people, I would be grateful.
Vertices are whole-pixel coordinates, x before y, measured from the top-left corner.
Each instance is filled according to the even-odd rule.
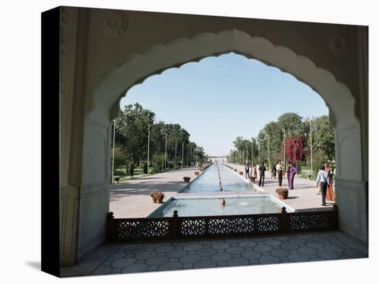
[[[310,124],[313,148],[313,165],[335,159],[335,133],[326,115],[311,119],[296,113],[284,113],[277,121],[265,124],[258,137],[243,139],[236,137],[234,150],[227,157],[234,163],[256,164],[258,161],[296,160],[307,163],[310,158]],[[285,135],[285,150],[284,150]],[[253,148],[253,155],[252,155]],[[268,156],[269,152],[269,156]],[[253,158],[252,158],[253,157]]]

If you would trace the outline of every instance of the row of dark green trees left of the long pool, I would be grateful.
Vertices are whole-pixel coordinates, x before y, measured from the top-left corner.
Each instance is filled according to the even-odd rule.
[[[171,168],[207,160],[203,147],[190,141],[188,131],[177,123],[155,121],[153,111],[136,103],[125,106],[115,119],[115,168],[128,164],[139,166],[140,163],[144,163],[146,165],[148,127],[150,128],[149,160],[154,171],[164,169],[165,152],[167,153],[167,167]],[[181,161],[183,149],[184,161]]]

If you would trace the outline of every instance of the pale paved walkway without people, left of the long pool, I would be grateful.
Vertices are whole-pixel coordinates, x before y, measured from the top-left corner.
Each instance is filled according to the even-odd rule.
[[[146,217],[161,205],[152,202],[151,191],[164,192],[164,200],[168,200],[188,185],[184,176],[190,176],[190,181],[197,177],[194,171],[198,170],[194,167],[177,169],[111,185],[109,211],[115,218]]]

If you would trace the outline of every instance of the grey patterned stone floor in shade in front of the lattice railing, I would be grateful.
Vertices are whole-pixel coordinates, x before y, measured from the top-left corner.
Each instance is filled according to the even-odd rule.
[[[368,257],[368,248],[339,231],[238,239],[111,244],[62,276],[151,272]],[[81,265],[81,268],[80,268]]]

